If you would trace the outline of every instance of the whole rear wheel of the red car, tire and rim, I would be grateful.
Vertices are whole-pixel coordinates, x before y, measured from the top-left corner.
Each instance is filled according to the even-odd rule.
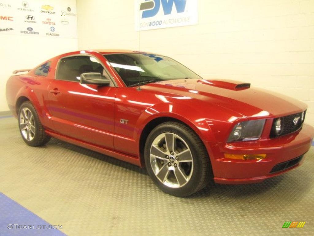
[[[51,138],[46,135],[35,107],[30,101],[24,102],[19,108],[19,130],[24,142],[30,146],[42,146]]]

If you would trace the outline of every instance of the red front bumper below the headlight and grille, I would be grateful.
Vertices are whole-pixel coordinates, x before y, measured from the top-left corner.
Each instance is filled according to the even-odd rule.
[[[259,183],[289,171],[304,161],[310,149],[314,128],[304,124],[298,132],[279,138],[256,142],[205,143],[208,150],[215,183]],[[261,160],[227,159],[229,154],[267,154]]]

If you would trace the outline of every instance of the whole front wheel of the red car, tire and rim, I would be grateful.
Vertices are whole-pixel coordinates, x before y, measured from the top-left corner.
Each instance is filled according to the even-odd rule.
[[[184,197],[203,187],[211,176],[207,151],[188,126],[165,122],[150,132],[144,150],[149,176],[164,192]]]

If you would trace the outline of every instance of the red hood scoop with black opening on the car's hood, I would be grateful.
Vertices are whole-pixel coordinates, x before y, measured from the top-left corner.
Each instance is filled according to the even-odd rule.
[[[214,87],[225,88],[229,90],[239,91],[251,87],[250,83],[243,83],[234,80],[198,80],[198,83],[206,84]]]

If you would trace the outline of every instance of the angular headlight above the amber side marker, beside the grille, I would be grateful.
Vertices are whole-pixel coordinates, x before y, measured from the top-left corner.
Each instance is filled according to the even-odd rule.
[[[257,140],[261,137],[264,125],[265,119],[238,123],[233,127],[227,142]]]

